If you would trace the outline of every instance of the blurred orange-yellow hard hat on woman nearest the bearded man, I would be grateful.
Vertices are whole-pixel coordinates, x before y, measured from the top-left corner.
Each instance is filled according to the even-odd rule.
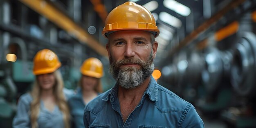
[[[85,76],[101,78],[103,76],[103,65],[97,58],[88,58],[83,62],[80,71]]]

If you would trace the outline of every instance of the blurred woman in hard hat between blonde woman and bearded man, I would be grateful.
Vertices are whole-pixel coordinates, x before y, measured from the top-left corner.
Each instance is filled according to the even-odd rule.
[[[85,105],[102,92],[103,65],[97,58],[88,58],[80,68],[82,74],[77,93],[68,100],[74,128],[85,128],[83,110]]]

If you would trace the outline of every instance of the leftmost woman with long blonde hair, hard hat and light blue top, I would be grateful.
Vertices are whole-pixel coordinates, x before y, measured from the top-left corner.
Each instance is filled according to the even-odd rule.
[[[34,57],[33,90],[23,94],[13,128],[70,128],[70,112],[63,94],[63,79],[57,55],[49,49]]]

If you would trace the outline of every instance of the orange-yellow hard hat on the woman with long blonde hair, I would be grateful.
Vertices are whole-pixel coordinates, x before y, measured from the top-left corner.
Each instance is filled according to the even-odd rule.
[[[34,57],[33,73],[35,75],[47,74],[56,71],[61,67],[58,56],[49,49],[43,49]]]

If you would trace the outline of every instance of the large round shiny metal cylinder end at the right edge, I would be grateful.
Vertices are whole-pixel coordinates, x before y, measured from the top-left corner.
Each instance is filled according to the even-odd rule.
[[[252,32],[243,32],[234,50],[231,65],[231,84],[242,95],[255,92],[256,75],[256,36]]]

